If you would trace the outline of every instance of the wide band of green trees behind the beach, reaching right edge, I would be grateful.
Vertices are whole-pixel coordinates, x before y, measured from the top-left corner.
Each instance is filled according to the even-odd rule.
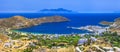
[[[46,48],[53,48],[53,47],[69,47],[69,46],[76,46],[78,44],[79,39],[87,38],[88,42],[84,45],[88,46],[91,43],[90,38],[95,37],[97,39],[105,40],[105,42],[110,42],[113,47],[120,47],[120,36],[117,32],[104,32],[102,35],[63,35],[63,36],[55,36],[55,35],[21,35],[19,33],[12,33],[8,34],[12,39],[21,39],[23,37],[28,38],[28,40],[37,40],[37,42],[33,42],[35,46],[29,46],[24,52],[31,52],[37,47],[46,47]]]

